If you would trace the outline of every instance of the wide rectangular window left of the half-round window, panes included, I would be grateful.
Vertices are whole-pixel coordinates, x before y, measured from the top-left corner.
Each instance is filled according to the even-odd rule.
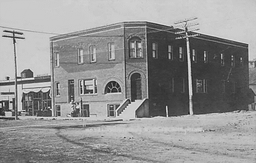
[[[79,80],[79,95],[97,94],[97,79]]]

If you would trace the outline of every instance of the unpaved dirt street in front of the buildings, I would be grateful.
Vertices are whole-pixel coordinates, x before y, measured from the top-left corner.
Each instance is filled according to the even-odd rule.
[[[256,112],[0,120],[0,150],[0,162],[256,162]]]

